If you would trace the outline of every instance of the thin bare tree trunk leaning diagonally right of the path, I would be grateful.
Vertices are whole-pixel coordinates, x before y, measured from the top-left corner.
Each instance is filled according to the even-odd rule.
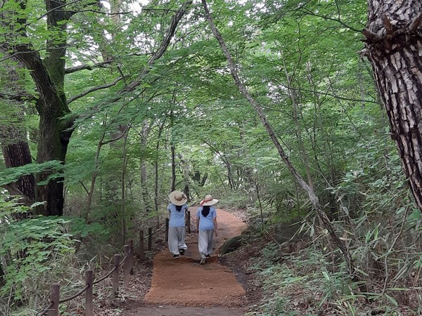
[[[205,10],[205,17],[208,20],[208,24],[210,25],[212,32],[214,36],[217,38],[220,47],[222,48],[222,51],[224,55],[226,56],[229,69],[231,72],[231,76],[233,77],[236,86],[238,86],[239,91],[245,96],[245,98],[249,101],[249,103],[252,105],[252,107],[257,112],[258,117],[260,118],[260,121],[262,125],[264,125],[264,128],[267,130],[267,133],[269,134],[269,137],[271,138],[272,142],[276,146],[276,149],[279,152],[279,155],[281,159],[283,160],[284,164],[286,164],[288,170],[292,174],[293,178],[299,183],[299,185],[302,187],[305,192],[307,192],[307,195],[309,197],[310,202],[312,203],[312,206],[314,207],[316,213],[318,214],[319,218],[321,218],[322,223],[324,224],[324,227],[326,230],[328,230],[328,233],[330,234],[331,238],[333,239],[333,242],[338,246],[340,251],[343,254],[343,257],[345,258],[345,262],[347,264],[347,270],[349,271],[350,277],[354,280],[354,282],[359,282],[359,288],[362,292],[366,292],[366,286],[362,283],[362,279],[359,275],[359,272],[354,268],[354,263],[352,261],[352,256],[350,254],[349,249],[347,249],[346,244],[341,240],[338,235],[335,232],[335,229],[333,225],[331,224],[328,216],[326,216],[326,213],[321,208],[321,205],[319,204],[319,199],[316,197],[314,190],[312,190],[311,187],[306,183],[306,181],[300,176],[298,171],[295,169],[295,167],[291,164],[290,160],[288,159],[288,156],[283,150],[283,147],[281,147],[281,144],[274,133],[271,125],[267,121],[267,117],[265,116],[264,112],[262,111],[262,108],[260,105],[255,101],[254,98],[250,95],[248,89],[241,81],[238,72],[236,70],[236,65],[231,58],[231,54],[229,52],[229,49],[226,47],[226,44],[224,42],[224,39],[222,38],[221,34],[219,34],[217,27],[215,27],[215,24],[212,20],[212,17],[210,15],[210,11],[207,8],[207,2],[205,0],[201,0],[204,10]]]

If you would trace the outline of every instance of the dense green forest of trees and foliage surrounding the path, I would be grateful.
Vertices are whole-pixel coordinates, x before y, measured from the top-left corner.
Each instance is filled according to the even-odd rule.
[[[243,209],[256,239],[299,223],[312,240],[294,264],[262,249],[254,315],[294,315],[281,293],[304,279],[324,293],[309,315],[421,312],[418,185],[362,32],[378,1],[1,4],[0,314],[32,315],[175,189]]]

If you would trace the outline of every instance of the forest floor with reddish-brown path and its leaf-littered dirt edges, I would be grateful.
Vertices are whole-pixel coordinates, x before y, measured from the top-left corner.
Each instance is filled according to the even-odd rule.
[[[196,208],[190,208],[196,214]],[[96,315],[170,316],[170,315],[245,315],[248,307],[260,301],[259,287],[244,268],[248,254],[219,256],[219,246],[241,235],[247,225],[241,211],[217,210],[218,237],[212,257],[200,265],[198,235],[186,235],[188,251],[177,259],[162,241],[160,251],[149,263],[137,262],[129,287],[108,301],[97,298]],[[196,225],[191,226],[192,229]]]

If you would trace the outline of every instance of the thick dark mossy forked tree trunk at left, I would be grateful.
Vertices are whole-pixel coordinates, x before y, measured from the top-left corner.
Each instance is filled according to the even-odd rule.
[[[53,39],[47,41],[45,60],[41,59],[38,51],[31,44],[16,44],[8,47],[15,54],[22,65],[28,70],[34,84],[37,86],[39,100],[37,111],[39,113],[39,140],[37,162],[43,163],[51,160],[65,162],[68,143],[72,135],[72,119],[64,119],[70,113],[65,100],[63,83],[65,76],[65,54],[67,46],[66,22],[70,18],[68,11],[57,10],[63,7],[64,1],[46,0],[46,20],[48,28],[53,32],[60,32],[60,41]],[[25,4],[20,4],[25,8]],[[26,20],[20,20],[21,25],[27,25]],[[25,28],[20,29],[20,35],[27,37]],[[37,202],[46,202],[37,206],[35,213],[46,216],[63,214],[63,178],[48,180],[53,171],[43,171],[37,174],[37,183],[45,181],[46,185],[35,186],[35,199]]]

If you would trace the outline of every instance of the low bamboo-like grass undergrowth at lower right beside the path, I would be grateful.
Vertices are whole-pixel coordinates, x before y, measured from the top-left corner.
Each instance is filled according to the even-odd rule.
[[[345,275],[345,265],[333,271],[333,263],[327,260],[330,257],[318,249],[291,255],[277,254],[278,249],[278,245],[269,243],[258,258],[251,260],[250,268],[256,272],[264,294],[260,306],[248,315],[363,315],[373,310],[399,315],[399,304],[389,294],[367,294],[376,308],[364,304],[357,284]]]

